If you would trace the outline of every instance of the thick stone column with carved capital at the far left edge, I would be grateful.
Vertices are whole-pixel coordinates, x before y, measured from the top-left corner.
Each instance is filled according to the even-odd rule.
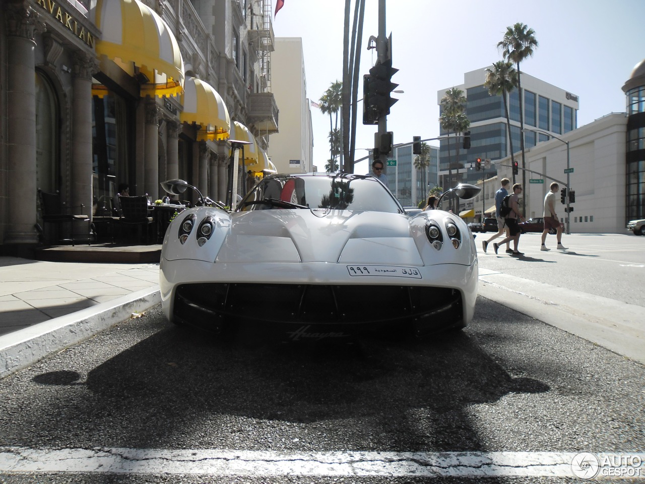
[[[5,244],[38,241],[36,187],[35,33],[44,30],[26,1],[5,1],[7,32],[7,205]]]

